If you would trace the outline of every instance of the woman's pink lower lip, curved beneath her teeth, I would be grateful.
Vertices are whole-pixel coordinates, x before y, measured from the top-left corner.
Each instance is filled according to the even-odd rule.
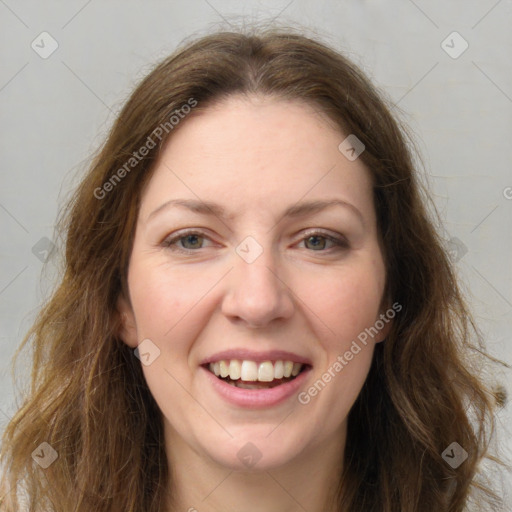
[[[298,393],[307,378],[310,368],[303,370],[295,379],[268,389],[237,388],[216,377],[212,372],[201,367],[213,389],[227,402],[248,409],[261,409],[278,405]]]

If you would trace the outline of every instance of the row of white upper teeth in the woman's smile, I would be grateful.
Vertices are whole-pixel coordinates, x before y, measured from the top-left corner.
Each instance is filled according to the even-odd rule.
[[[283,377],[295,377],[302,369],[302,363],[293,361],[239,361],[237,359],[210,363],[209,369],[217,377],[229,377],[231,380],[272,382]]]

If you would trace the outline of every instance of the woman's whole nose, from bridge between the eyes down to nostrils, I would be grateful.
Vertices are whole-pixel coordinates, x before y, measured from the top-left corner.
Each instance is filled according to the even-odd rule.
[[[292,297],[279,277],[282,267],[270,241],[262,245],[253,237],[247,237],[235,253],[224,313],[250,325],[265,325],[273,319],[291,316]]]

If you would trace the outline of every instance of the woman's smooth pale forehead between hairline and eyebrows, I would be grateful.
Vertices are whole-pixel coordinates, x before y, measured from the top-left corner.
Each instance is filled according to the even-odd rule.
[[[145,190],[141,216],[175,197],[213,199],[241,211],[341,194],[371,208],[369,171],[339,151],[345,138],[302,101],[228,97],[191,114],[172,133]]]

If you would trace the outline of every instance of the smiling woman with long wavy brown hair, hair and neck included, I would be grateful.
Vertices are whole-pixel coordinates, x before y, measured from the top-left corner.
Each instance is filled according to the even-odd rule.
[[[181,48],[70,203],[2,510],[490,502],[494,403],[425,203],[402,129],[334,50],[279,31]]]

